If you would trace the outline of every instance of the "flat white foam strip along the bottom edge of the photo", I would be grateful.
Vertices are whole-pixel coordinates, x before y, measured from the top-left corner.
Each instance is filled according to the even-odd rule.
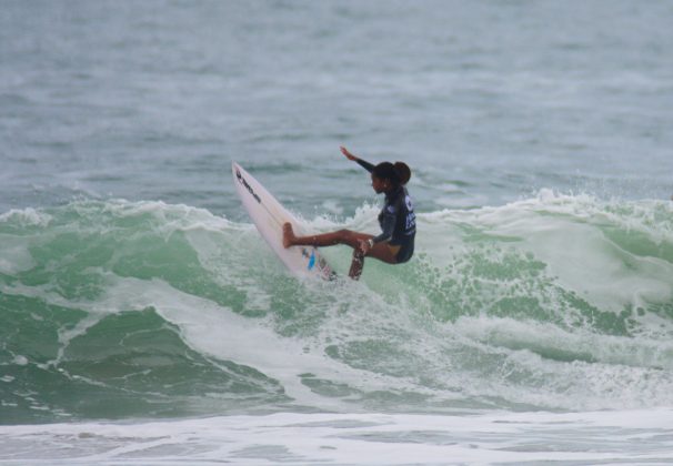
[[[297,414],[0,426],[31,464],[666,464],[673,412]]]

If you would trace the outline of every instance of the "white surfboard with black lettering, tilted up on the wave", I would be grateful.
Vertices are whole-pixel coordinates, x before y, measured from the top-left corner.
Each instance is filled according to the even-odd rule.
[[[231,163],[233,184],[243,206],[262,237],[285,266],[297,276],[319,276],[332,280],[334,272],[313,246],[283,246],[283,224],[290,222],[294,233],[304,234],[299,221],[288,212],[250,173],[235,162]]]

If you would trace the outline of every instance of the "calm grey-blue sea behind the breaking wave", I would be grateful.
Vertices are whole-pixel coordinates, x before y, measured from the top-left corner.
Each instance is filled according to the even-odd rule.
[[[404,160],[420,211],[540,189],[673,194],[669,1],[0,2],[0,212],[162,200],[243,219],[373,199],[340,144]]]

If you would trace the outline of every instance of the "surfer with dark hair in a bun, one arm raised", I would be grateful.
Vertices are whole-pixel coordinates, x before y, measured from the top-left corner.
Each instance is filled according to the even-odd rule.
[[[292,225],[283,225],[283,245],[333,246],[346,244],[353,249],[353,261],[349,276],[360,278],[364,257],[374,257],[389,264],[402,264],[413,255],[413,242],[416,233],[416,216],[405,184],[411,178],[411,170],[403,162],[382,162],[373,165],[341,148],[341,152],[371,173],[372,188],[376,194],[385,194],[385,204],[379,214],[381,234],[378,236],[339,230],[311,236],[295,236]]]

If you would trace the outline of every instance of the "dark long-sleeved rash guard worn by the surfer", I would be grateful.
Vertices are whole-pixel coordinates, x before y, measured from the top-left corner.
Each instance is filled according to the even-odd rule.
[[[374,165],[364,160],[356,162],[368,172]],[[404,186],[398,186],[385,194],[385,205],[379,214],[382,233],[372,239],[374,243],[389,242],[392,246],[401,246],[398,252],[398,263],[406,262],[413,255],[413,242],[416,234],[416,215],[413,212],[411,196]]]

